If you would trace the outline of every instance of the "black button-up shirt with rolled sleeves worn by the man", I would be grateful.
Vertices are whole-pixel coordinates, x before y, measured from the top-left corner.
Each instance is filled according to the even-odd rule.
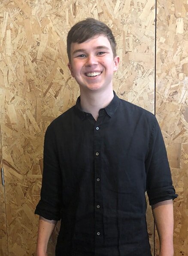
[[[152,113],[115,95],[95,121],[79,98],[49,125],[35,213],[61,219],[56,256],[151,256],[146,191],[176,197]]]

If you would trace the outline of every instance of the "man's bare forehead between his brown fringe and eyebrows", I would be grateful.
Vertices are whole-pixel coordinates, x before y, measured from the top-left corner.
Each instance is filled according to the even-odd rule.
[[[110,51],[112,51],[110,42],[106,36],[97,35],[89,38],[83,43],[71,43],[70,52],[73,54],[74,51],[79,49],[87,51],[100,48],[108,48]]]

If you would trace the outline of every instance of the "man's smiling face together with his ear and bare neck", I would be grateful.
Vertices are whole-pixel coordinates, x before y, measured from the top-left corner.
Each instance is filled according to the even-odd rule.
[[[80,87],[82,110],[97,120],[99,110],[114,97],[112,78],[118,70],[119,57],[114,56],[109,39],[95,35],[83,43],[71,43],[68,67]]]

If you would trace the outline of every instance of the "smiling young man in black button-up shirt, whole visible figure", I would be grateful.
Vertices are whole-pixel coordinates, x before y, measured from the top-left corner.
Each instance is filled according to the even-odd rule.
[[[60,219],[56,256],[151,256],[146,191],[160,256],[173,256],[176,194],[164,141],[153,114],[113,92],[115,47],[112,31],[95,19],[67,36],[80,97],[45,134],[37,256],[47,255]]]

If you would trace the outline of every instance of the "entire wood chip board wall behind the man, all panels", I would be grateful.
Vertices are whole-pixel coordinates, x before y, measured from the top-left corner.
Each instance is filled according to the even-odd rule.
[[[180,255],[180,247],[186,255],[188,185],[188,4],[186,0],[180,2],[158,1],[156,66],[157,117],[179,193],[175,202],[175,256]],[[45,130],[79,96],[79,86],[67,68],[67,32],[87,17],[109,25],[120,56],[120,67],[114,74],[115,92],[154,113],[155,8],[154,0],[1,1],[0,155],[5,187],[0,185],[0,255],[35,255],[38,216],[34,210],[40,197]],[[147,219],[153,252],[150,207]],[[55,255],[58,228],[59,224],[49,243],[49,256]]]

